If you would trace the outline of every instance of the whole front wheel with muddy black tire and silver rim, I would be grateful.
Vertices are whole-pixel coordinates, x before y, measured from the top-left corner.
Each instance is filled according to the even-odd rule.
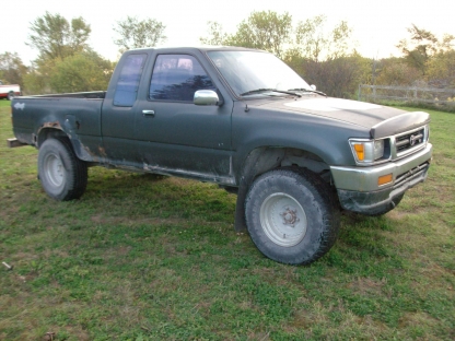
[[[245,200],[249,235],[268,258],[306,264],[335,244],[339,211],[332,191],[308,170],[276,169],[252,185]]]

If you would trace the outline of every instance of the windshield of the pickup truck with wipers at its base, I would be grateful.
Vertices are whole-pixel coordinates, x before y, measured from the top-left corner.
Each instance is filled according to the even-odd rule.
[[[310,85],[273,55],[261,51],[209,51],[220,73],[237,96],[311,91]]]

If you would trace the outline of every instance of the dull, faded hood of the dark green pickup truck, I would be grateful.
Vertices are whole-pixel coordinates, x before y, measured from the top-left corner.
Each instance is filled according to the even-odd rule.
[[[259,104],[296,115],[316,115],[370,129],[372,138],[383,138],[421,127],[430,115],[409,113],[377,104],[341,98],[299,98]]]

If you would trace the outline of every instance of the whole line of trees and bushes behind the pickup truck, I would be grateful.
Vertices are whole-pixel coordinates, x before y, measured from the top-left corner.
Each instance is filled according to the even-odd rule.
[[[361,83],[455,87],[455,37],[436,37],[415,24],[409,36],[397,42],[402,56],[380,60],[355,50],[348,22],[328,27],[324,15],[294,25],[289,13],[252,12],[234,33],[224,32],[218,22],[207,25],[200,43],[270,51],[330,96],[354,97]],[[114,25],[113,43],[119,52],[153,47],[166,40],[165,28],[154,19],[127,16]],[[20,84],[26,94],[104,90],[116,62],[89,46],[90,34],[83,17],[68,21],[46,12],[31,23],[26,42],[38,57],[27,67],[16,52],[0,54],[0,79]]]

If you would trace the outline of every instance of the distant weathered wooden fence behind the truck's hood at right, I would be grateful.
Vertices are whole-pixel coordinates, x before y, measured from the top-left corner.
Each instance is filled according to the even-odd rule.
[[[455,107],[455,89],[360,84],[359,101],[397,101]]]

